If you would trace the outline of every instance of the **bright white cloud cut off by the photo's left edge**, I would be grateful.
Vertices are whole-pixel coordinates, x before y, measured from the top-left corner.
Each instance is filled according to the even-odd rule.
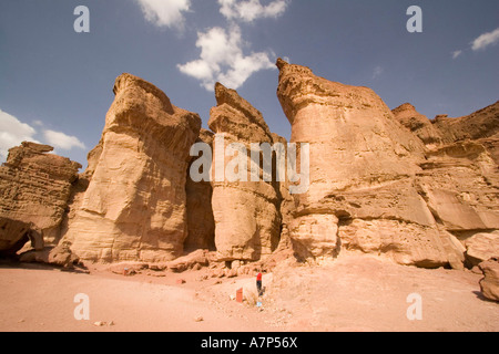
[[[33,138],[35,134],[32,126],[0,110],[0,159],[6,160],[9,148],[22,142],[38,143]]]

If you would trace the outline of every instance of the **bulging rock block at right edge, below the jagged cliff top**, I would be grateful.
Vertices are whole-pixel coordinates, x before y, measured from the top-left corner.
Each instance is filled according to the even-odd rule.
[[[421,167],[420,194],[447,230],[499,229],[497,164],[481,144],[436,147]]]

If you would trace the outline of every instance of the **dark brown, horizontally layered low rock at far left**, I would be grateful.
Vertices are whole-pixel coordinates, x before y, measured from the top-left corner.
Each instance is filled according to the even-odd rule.
[[[40,250],[60,239],[71,185],[81,165],[48,154],[53,148],[22,143],[0,167],[0,251],[16,253],[30,239]]]

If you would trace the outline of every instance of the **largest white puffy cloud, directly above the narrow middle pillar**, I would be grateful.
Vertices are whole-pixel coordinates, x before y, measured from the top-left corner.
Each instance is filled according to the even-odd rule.
[[[217,81],[237,90],[255,72],[275,69],[269,53],[244,55],[243,45],[241,29],[235,24],[228,31],[215,27],[207,32],[198,32],[196,46],[201,49],[200,59],[177,65],[179,70],[200,80],[206,90],[213,91]]]

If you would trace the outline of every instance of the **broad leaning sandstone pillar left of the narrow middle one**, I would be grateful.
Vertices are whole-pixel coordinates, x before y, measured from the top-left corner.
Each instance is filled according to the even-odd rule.
[[[174,259],[187,237],[186,170],[201,118],[130,74],[114,94],[64,239],[82,260]]]

